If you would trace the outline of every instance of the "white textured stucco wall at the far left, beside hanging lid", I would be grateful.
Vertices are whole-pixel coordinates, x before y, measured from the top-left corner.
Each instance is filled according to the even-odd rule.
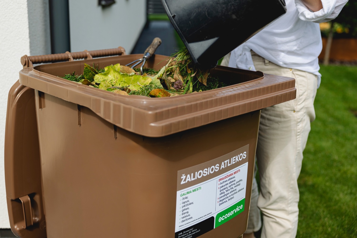
[[[10,228],[4,176],[7,95],[19,79],[21,56],[50,54],[51,45],[47,0],[0,2],[0,228]]]

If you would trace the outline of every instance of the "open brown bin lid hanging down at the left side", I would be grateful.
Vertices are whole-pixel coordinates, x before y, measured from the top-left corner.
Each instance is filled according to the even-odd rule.
[[[11,87],[7,100],[4,148],[11,230],[22,238],[45,238],[35,92],[18,81]]]

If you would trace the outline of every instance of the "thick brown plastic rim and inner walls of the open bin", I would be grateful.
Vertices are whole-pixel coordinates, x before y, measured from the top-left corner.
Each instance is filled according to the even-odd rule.
[[[295,79],[231,67],[217,66],[211,74],[233,85],[186,95],[148,98],[124,96],[92,88],[57,76],[83,72],[84,63],[125,65],[142,55],[122,55],[39,65],[20,71],[19,82],[44,93],[90,108],[127,131],[162,137],[238,116],[296,97]],[[160,69],[168,56],[153,55],[146,67]]]

